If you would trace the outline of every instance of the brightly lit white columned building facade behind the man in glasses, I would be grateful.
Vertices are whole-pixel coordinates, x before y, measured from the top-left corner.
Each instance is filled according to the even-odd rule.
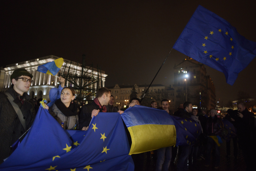
[[[60,68],[60,71],[58,74],[55,76],[49,75],[49,74],[44,74],[42,72],[38,72],[38,66],[41,66],[45,63],[52,62],[59,57],[55,57],[53,55],[47,56],[47,57],[41,57],[37,58],[34,60],[28,60],[20,63],[14,63],[11,65],[6,66],[6,68],[1,68],[1,75],[0,75],[0,88],[3,91],[6,91],[8,88],[11,87],[12,81],[10,80],[10,76],[12,75],[12,72],[17,69],[17,68],[25,68],[27,71],[29,71],[32,75],[34,80],[34,83],[31,84],[31,87],[29,88],[29,91],[27,92],[32,98],[37,97],[39,98],[44,98],[49,100],[49,91],[51,88],[54,88],[58,85],[58,77],[61,76],[61,72],[67,73],[68,69],[70,69],[70,72],[76,71],[78,74],[80,74],[81,70],[81,64],[74,63],[70,60],[65,60],[64,63]],[[67,67],[64,69],[64,65],[67,63]],[[71,66],[70,66],[71,63]],[[88,72],[90,71],[91,68],[88,68]],[[96,69],[95,69],[96,70]],[[97,72],[92,72],[93,76],[97,76]],[[92,75],[92,74],[91,74]],[[101,71],[101,82],[99,82],[99,87],[104,87],[105,86],[105,78],[108,75],[105,74],[105,71]],[[74,86],[73,84],[70,84],[67,81],[68,86]],[[91,86],[97,86],[97,85],[91,85]]]

